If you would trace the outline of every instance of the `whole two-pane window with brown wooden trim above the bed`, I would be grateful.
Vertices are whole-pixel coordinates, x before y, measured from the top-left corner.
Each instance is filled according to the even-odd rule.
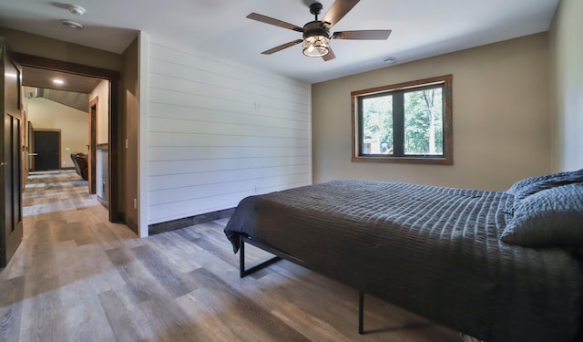
[[[351,96],[353,161],[453,164],[451,75]]]

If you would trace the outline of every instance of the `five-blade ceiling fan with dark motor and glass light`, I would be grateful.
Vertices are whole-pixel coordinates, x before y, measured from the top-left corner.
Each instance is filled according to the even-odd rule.
[[[263,55],[271,55],[281,51],[284,48],[293,47],[303,43],[303,54],[308,57],[322,57],[323,60],[329,61],[336,56],[330,47],[330,39],[358,39],[358,40],[385,40],[391,34],[391,30],[360,30],[360,31],[339,31],[330,34],[332,26],[336,25],[343,16],[350,12],[354,5],[360,0],[336,0],[323,16],[322,21],[318,20],[318,15],[322,14],[323,6],[315,2],[310,5],[310,13],[315,16],[303,27],[295,26],[284,21],[274,19],[270,16],[262,16],[257,13],[251,13],[247,16],[250,19],[261,21],[261,23],[280,26],[293,31],[302,32],[303,38],[293,40],[289,43],[282,44],[279,47],[273,47],[261,52]]]

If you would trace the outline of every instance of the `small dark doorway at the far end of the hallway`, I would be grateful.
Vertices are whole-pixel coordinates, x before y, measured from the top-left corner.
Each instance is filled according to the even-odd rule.
[[[58,170],[61,168],[61,131],[34,130],[34,171]]]

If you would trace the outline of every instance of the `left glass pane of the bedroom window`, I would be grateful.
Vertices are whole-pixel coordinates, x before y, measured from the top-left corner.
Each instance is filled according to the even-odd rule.
[[[361,154],[393,154],[393,96],[362,100]]]

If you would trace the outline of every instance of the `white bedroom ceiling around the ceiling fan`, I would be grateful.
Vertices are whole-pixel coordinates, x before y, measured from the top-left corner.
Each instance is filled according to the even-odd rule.
[[[71,14],[69,3],[2,0],[0,26],[122,53],[138,30],[170,45],[218,54],[308,83],[387,67],[468,47],[547,31],[559,0],[363,0],[332,27],[343,30],[391,29],[386,41],[332,40],[335,59],[304,57],[297,45],[271,56],[261,51],[302,37],[301,33],[260,23],[264,16],[303,26],[312,21],[312,0],[74,0],[85,7]],[[333,0],[322,0],[324,13]],[[323,15],[323,13],[322,13]],[[322,16],[319,17],[321,19]],[[85,26],[72,30],[62,19]]]

